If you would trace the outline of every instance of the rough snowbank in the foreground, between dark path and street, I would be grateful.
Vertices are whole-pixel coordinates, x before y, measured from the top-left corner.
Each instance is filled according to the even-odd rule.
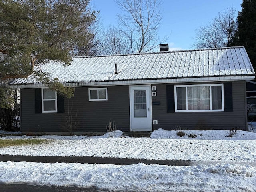
[[[255,191],[256,168],[236,164],[166,166],[0,162],[0,181],[111,191]]]

